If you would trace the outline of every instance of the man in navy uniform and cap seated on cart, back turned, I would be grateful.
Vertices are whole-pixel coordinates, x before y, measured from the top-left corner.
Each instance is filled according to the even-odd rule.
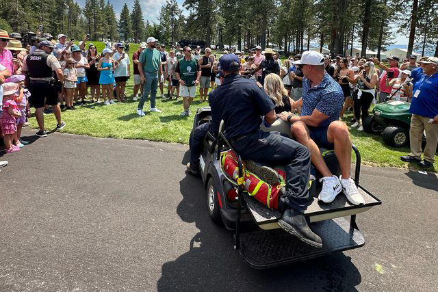
[[[214,98],[210,98],[210,103],[214,103],[211,107],[218,110],[213,118],[224,120],[224,134],[242,158],[287,165],[286,191],[281,198],[285,211],[279,225],[302,241],[322,248],[321,238],[310,230],[304,216],[311,200],[307,191],[309,150],[279,132],[261,131],[262,116],[268,126],[276,120],[274,103],[260,83],[240,76],[240,59],[236,55],[223,55],[219,62],[225,78],[214,91]]]

